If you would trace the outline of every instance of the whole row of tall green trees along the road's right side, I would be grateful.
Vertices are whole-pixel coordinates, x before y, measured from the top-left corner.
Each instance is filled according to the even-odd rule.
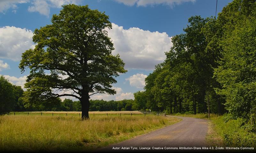
[[[255,0],[234,0],[218,18],[192,16],[188,23],[172,37],[144,91],[134,94],[137,106],[169,113],[210,109],[248,120],[256,109]]]

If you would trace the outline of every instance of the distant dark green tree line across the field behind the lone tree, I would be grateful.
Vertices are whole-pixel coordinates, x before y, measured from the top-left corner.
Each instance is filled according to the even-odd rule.
[[[52,103],[41,101],[38,105],[29,105],[23,101],[23,89],[21,86],[11,84],[6,78],[0,76],[0,115],[9,112],[23,111],[81,111],[81,102],[72,99],[56,98]],[[89,111],[133,111],[134,100],[90,100]]]

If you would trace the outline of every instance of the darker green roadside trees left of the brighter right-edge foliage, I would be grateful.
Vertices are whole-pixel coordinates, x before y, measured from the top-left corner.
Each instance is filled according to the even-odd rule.
[[[185,33],[172,38],[173,47],[166,53],[167,59],[145,79],[145,94],[150,102],[147,104],[153,110],[170,109],[170,113],[207,111],[206,92],[212,92],[218,85],[212,78],[213,68],[217,66],[215,54],[218,53],[209,51],[209,40],[206,40],[209,37],[206,25],[212,21],[213,18],[191,17],[189,25],[183,29]],[[212,98],[214,103],[220,101],[218,96]],[[220,113],[220,110],[214,109],[213,113]]]

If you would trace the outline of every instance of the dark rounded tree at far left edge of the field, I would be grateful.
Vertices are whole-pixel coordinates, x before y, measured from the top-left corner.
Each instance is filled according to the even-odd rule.
[[[9,113],[14,109],[15,99],[12,84],[0,76],[0,115]]]

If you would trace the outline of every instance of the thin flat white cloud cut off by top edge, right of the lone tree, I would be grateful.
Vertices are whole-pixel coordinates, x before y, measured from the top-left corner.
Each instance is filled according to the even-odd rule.
[[[119,3],[123,3],[128,6],[147,6],[147,5],[158,5],[164,4],[173,7],[174,5],[179,5],[184,2],[195,2],[196,0],[114,0]]]

